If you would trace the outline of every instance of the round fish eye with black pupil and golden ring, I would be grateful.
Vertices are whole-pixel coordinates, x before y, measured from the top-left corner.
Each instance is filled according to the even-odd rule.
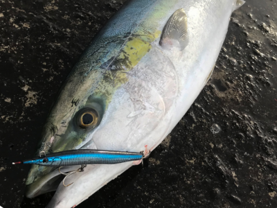
[[[98,112],[92,108],[84,108],[77,115],[77,124],[80,128],[92,128],[98,123]]]

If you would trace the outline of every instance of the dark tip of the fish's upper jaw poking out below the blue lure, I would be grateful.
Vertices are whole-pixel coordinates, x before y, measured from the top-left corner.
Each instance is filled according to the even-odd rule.
[[[44,168],[51,169],[51,167]],[[66,166],[62,168],[62,172],[66,173],[69,171],[75,171],[78,168],[80,168],[80,166]],[[44,193],[56,191],[62,180],[64,180],[64,177],[65,175],[60,173],[59,168],[49,171],[46,175],[37,177],[37,179],[30,184],[26,184],[26,197],[34,198]]]

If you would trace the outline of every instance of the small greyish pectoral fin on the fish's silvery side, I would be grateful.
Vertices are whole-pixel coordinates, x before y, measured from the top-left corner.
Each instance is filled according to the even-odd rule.
[[[183,51],[188,45],[188,24],[186,12],[183,8],[174,12],[168,19],[166,26],[161,34],[160,45],[163,49],[176,47]]]

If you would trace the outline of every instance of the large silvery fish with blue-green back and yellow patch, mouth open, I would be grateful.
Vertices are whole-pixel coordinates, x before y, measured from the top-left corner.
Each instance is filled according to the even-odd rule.
[[[213,73],[233,10],[242,0],[131,0],[82,53],[60,89],[37,153],[144,151],[170,134]],[[33,165],[26,196],[75,207],[138,162],[89,164],[67,175]],[[80,166],[66,166],[64,173]]]

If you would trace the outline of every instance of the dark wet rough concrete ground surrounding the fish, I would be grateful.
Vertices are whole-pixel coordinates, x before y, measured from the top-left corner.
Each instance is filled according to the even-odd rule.
[[[42,125],[62,81],[116,1],[0,1],[0,206],[24,198]],[[78,207],[277,207],[276,1],[233,13],[208,85],[144,167]]]

